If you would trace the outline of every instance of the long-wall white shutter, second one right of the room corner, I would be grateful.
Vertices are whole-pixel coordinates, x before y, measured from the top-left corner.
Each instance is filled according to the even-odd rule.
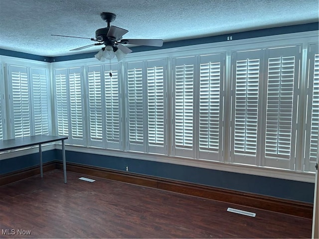
[[[69,69],[69,118],[72,144],[84,145],[82,68]]]

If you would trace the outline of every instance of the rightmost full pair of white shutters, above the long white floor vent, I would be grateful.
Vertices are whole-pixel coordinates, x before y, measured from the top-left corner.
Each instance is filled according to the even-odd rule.
[[[300,55],[300,46],[233,53],[232,162],[293,169]]]

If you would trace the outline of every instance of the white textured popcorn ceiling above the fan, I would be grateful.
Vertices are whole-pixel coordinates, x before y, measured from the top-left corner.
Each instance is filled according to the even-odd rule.
[[[124,38],[164,42],[318,21],[319,0],[0,0],[0,48],[41,56],[97,52],[89,39],[106,27],[101,12]],[[134,50],[134,48],[133,48]]]

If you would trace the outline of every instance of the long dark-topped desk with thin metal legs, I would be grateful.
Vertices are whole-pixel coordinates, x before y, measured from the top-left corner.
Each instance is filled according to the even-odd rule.
[[[24,148],[34,145],[39,145],[39,154],[40,154],[40,173],[41,178],[43,178],[43,169],[42,169],[42,148],[41,144],[51,143],[55,141],[62,141],[62,160],[63,160],[63,173],[64,173],[64,183],[66,183],[66,162],[65,162],[65,147],[64,140],[68,137],[65,136],[51,136],[51,135],[34,135],[22,138],[13,138],[0,140],[0,152],[10,149]]]

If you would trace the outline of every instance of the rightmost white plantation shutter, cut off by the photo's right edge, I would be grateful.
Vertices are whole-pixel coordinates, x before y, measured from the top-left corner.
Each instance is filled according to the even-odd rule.
[[[309,46],[306,135],[304,145],[305,171],[315,172],[319,144],[319,44]]]

